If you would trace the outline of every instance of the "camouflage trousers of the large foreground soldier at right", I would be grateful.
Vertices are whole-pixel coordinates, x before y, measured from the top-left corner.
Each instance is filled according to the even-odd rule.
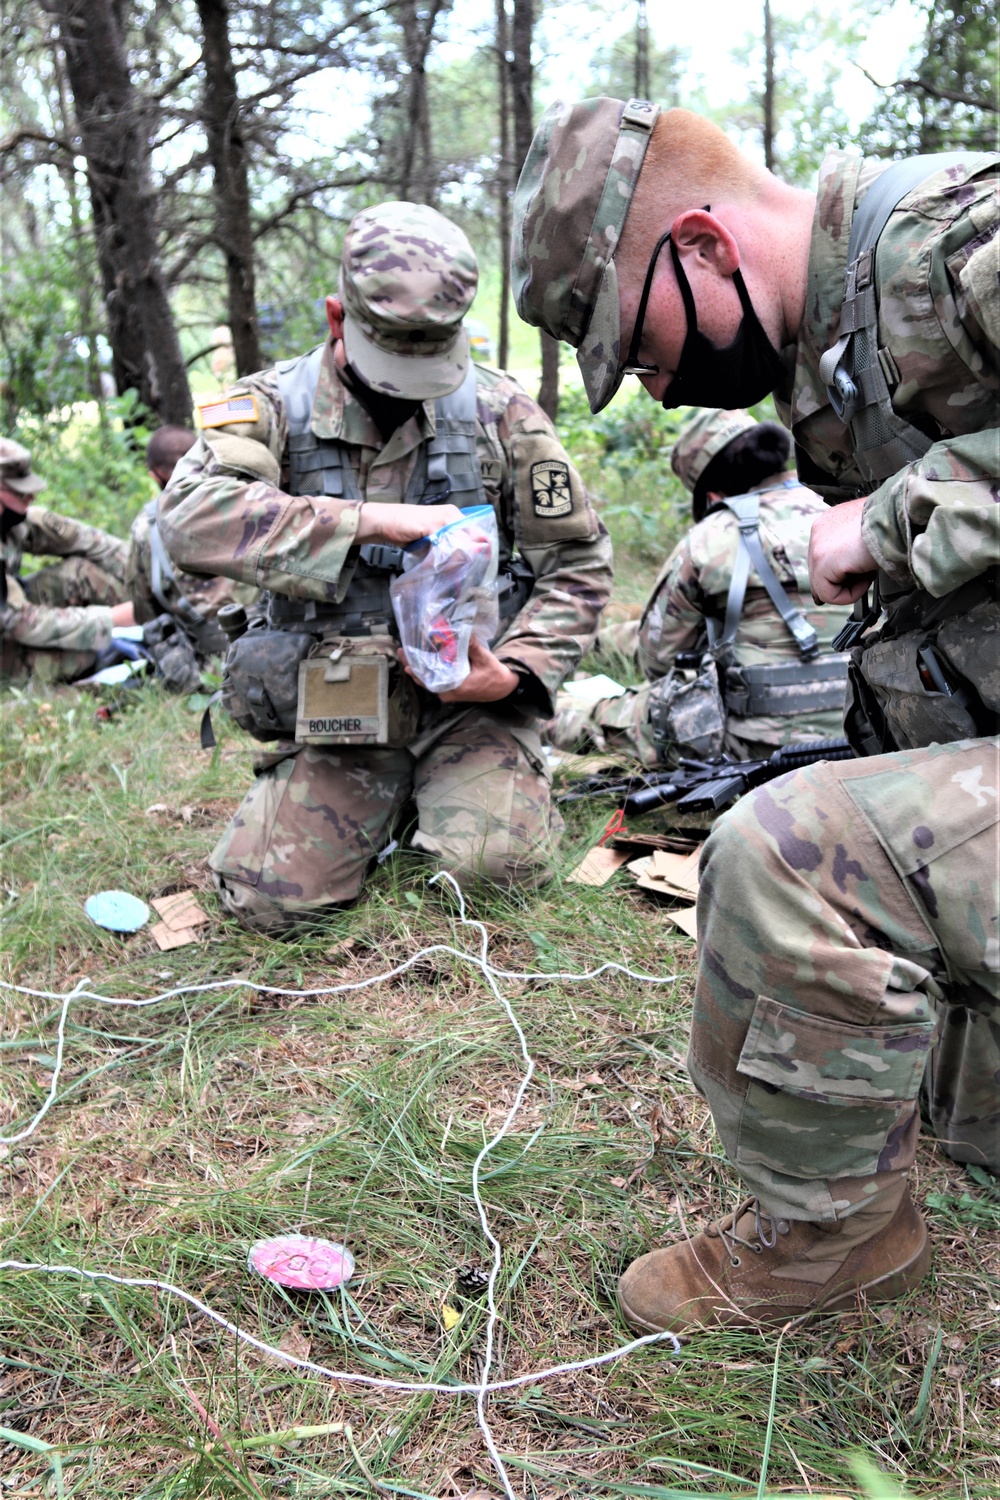
[[[921,1128],[1000,1168],[1000,742],[759,788],[702,856],[688,1070],[774,1214],[898,1190]]]

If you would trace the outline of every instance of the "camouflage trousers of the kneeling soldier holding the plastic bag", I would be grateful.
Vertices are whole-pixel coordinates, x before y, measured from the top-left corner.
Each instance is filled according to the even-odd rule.
[[[255,770],[208,864],[223,904],[258,932],[354,902],[411,802],[411,846],[463,882],[540,885],[552,873],[562,819],[541,741],[486,708],[418,754],[294,746],[261,753]]]

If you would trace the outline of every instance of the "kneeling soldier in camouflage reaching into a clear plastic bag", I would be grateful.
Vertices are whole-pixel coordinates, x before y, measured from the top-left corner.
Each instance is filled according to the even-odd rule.
[[[549,873],[561,825],[535,718],[594,639],[610,544],[544,412],[469,360],[477,276],[432,208],[357,214],[327,344],[204,404],[160,500],[178,566],[268,590],[223,702],[280,742],[258,753],[210,861],[250,927],[352,902],[411,800],[412,846],[436,864],[507,884]],[[397,663],[388,584],[400,546],[483,502],[501,536],[501,634],[436,698]]]

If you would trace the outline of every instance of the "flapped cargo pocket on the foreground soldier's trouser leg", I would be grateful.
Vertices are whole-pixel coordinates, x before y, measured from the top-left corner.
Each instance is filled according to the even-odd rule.
[[[736,1071],[750,1080],[736,1166],[858,1178],[916,1100],[936,1022],[850,1026],[760,998]]]

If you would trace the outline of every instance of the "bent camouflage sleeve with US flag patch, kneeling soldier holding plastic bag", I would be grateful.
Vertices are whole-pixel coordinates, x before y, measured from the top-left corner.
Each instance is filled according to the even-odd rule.
[[[273,370],[241,380],[225,400],[252,398],[252,422],[207,428],[160,495],[159,524],[171,560],[190,573],[223,574],[292,598],[333,600],[361,512],[360,501],[286,495],[280,489],[286,422]]]

